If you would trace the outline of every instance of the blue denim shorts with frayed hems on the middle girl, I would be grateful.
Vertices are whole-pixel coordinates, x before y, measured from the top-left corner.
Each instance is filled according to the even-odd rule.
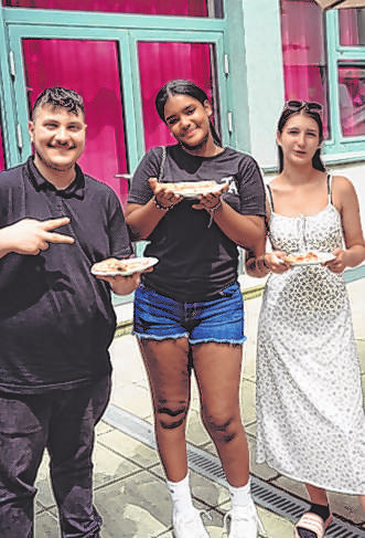
[[[190,344],[243,344],[246,336],[239,285],[226,287],[222,297],[212,300],[182,303],[140,284],[135,295],[133,334],[154,340],[187,338]]]

